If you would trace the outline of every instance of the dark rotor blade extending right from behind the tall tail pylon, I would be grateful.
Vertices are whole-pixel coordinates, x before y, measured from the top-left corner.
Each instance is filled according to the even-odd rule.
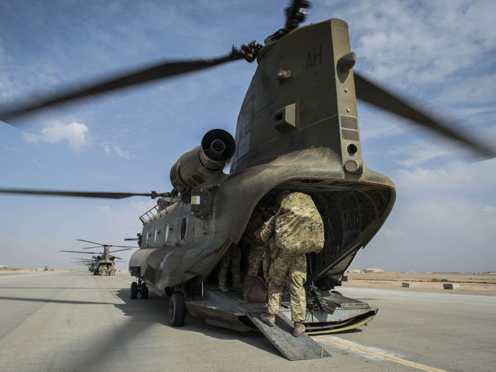
[[[357,72],[354,72],[354,76],[355,90],[358,99],[409,119],[423,127],[430,128],[445,137],[457,140],[485,159],[496,157],[496,150],[491,149],[485,144],[480,143],[477,139],[471,138],[466,134],[459,134],[458,128],[454,128],[452,125],[447,124],[440,119],[434,118],[418,109],[414,109],[407,101],[388,93],[385,89],[372,83]]]

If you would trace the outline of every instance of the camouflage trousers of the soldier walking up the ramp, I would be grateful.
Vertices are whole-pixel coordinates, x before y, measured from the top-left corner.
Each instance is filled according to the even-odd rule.
[[[293,321],[304,321],[307,300],[303,284],[307,281],[307,256],[305,253],[279,254],[270,264],[269,269],[269,296],[267,301],[267,313],[277,314],[281,306],[284,279],[289,277],[291,294],[291,319]]]

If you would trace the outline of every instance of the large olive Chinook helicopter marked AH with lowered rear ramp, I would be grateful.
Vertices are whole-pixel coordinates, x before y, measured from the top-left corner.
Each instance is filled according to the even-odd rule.
[[[255,207],[282,190],[309,194],[325,226],[325,245],[309,253],[308,334],[338,332],[367,324],[377,309],[332,291],[360,248],[379,231],[393,207],[396,190],[386,176],[365,166],[357,99],[458,141],[483,158],[496,153],[446,121],[415,109],[354,70],[348,24],[329,19],[299,27],[310,3],[294,0],[286,24],[267,37],[213,60],[164,62],[62,92],[36,104],[0,111],[9,123],[45,107],[94,97],[147,81],[237,60],[257,67],[241,106],[236,135],[212,129],[170,170],[173,190],[159,193],[1,189],[4,193],[124,198],[159,198],[140,216],[139,249],[129,260],[130,298],[148,288],[170,296],[169,323],[182,326],[186,312],[238,331],[259,329],[288,359],[328,356],[309,337],[290,336],[290,305],[283,298],[276,327],[258,320],[264,304],[243,302],[239,291],[216,290],[216,267],[240,244]],[[229,174],[223,172],[231,162]],[[136,238],[135,238],[136,239]]]

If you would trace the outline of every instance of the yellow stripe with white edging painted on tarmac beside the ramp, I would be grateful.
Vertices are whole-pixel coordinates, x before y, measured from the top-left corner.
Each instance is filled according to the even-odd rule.
[[[422,371],[428,371],[428,372],[445,372],[443,370],[439,370],[434,367],[429,367],[420,363],[415,363],[411,361],[407,361],[406,359],[403,359],[402,355],[394,354],[391,352],[388,352],[386,350],[382,350],[379,348],[374,348],[370,346],[365,346],[361,345],[357,342],[353,341],[348,341],[345,339],[342,339],[337,336],[312,336],[313,339],[317,339],[320,342],[326,342],[331,344],[332,346],[335,346],[339,349],[348,349],[351,350],[357,354],[360,354],[368,359],[372,360],[388,360],[391,362],[396,362],[400,363],[402,365],[408,366],[408,367],[413,367],[418,370]]]

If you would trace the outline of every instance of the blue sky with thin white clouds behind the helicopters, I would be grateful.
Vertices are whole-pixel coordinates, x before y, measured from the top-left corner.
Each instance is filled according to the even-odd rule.
[[[496,139],[496,2],[314,1],[307,22],[344,19],[355,69],[466,131]],[[286,1],[2,1],[0,105],[162,59],[216,57],[262,42]],[[202,135],[233,135],[255,63],[244,61],[0,123],[0,187],[169,191]],[[397,202],[352,268],[496,269],[495,160],[359,103],[367,167]],[[141,231],[146,198],[0,196],[0,263],[71,267],[75,239],[114,245]],[[123,252],[123,257],[131,251]],[[76,267],[76,266],[72,266]],[[126,263],[120,268],[126,268]]]

